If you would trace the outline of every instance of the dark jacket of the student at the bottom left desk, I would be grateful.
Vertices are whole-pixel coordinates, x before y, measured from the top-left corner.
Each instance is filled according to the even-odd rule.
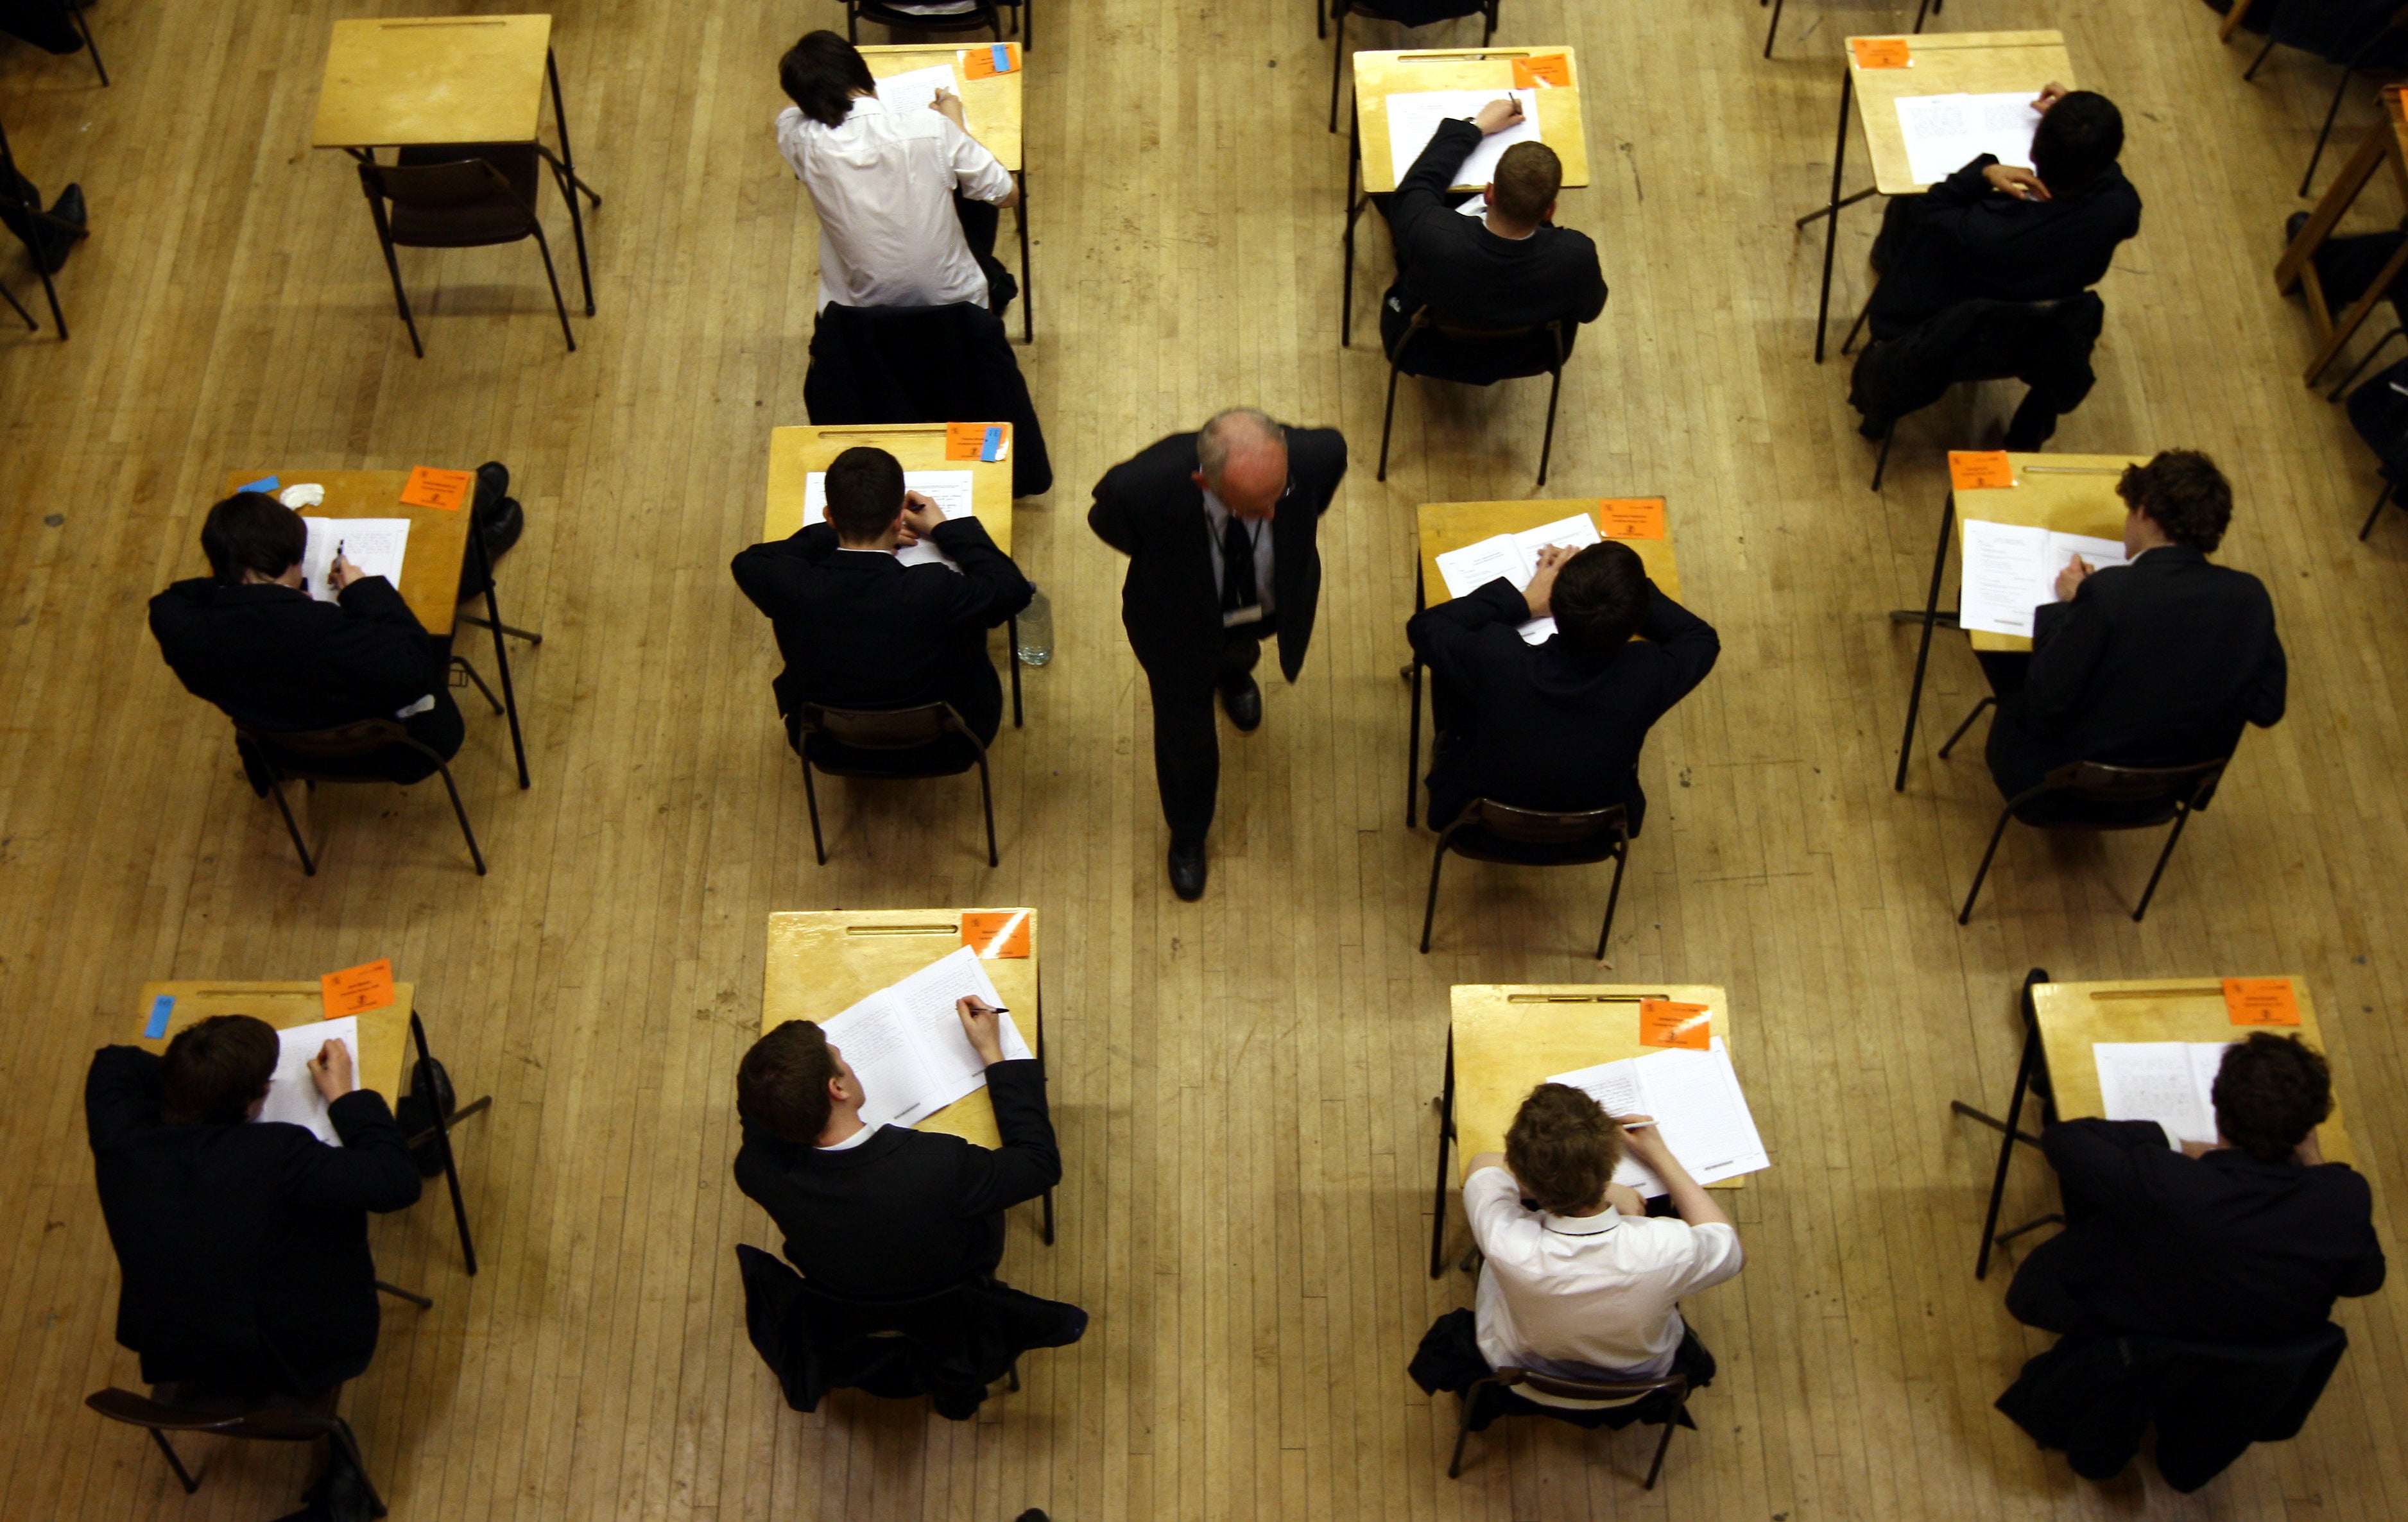
[[[383,1096],[327,1105],[342,1146],[299,1125],[164,1125],[159,1057],[101,1048],[84,1081],[92,1170],[125,1279],[118,1341],[142,1380],[311,1394],[376,1353],[368,1211],[419,1197]]]

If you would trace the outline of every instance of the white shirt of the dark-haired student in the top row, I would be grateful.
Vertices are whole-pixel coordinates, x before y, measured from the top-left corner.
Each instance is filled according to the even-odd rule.
[[[826,128],[787,106],[778,152],[819,210],[819,306],[987,303],[954,190],[997,202],[1011,195],[1011,173],[951,118],[857,96]]]

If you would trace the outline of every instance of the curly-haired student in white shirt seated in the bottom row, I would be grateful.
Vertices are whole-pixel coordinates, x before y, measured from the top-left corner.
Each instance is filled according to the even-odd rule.
[[[1637,1192],[1611,1182],[1625,1151],[1664,1182],[1678,1219],[1649,1216]],[[1580,1089],[1539,1084],[1505,1154],[1466,1163],[1464,1216],[1486,1260],[1479,1310],[1450,1310],[1421,1339],[1411,1375],[1426,1392],[1462,1394],[1507,1365],[1565,1380],[1714,1378],[1678,1300],[1739,1274],[1739,1228],[1647,1115],[1609,1117]],[[1483,1411],[1531,1409],[1517,1402],[1582,1426],[1625,1426],[1647,1406],[1512,1390]]]

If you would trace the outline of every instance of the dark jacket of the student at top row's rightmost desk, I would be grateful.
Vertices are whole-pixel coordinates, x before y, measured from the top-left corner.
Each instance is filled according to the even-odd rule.
[[[2056,301],[2095,287],[2114,248],[2141,231],[2141,193],[2109,164],[2054,200],[1989,188],[1982,154],[1912,202],[1869,306],[1873,337],[1898,337],[1958,301]]]

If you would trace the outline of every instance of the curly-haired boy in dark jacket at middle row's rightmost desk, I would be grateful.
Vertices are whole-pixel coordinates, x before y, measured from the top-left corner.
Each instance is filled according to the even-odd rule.
[[[2076,556],[2032,614],[2030,655],[1984,655],[1999,694],[1989,773],[2015,797],[2068,761],[2182,766],[2230,756],[2242,725],[2283,718],[2273,600],[2208,564],[2232,486],[2199,450],[2165,450],[2117,482],[2126,566]]]

